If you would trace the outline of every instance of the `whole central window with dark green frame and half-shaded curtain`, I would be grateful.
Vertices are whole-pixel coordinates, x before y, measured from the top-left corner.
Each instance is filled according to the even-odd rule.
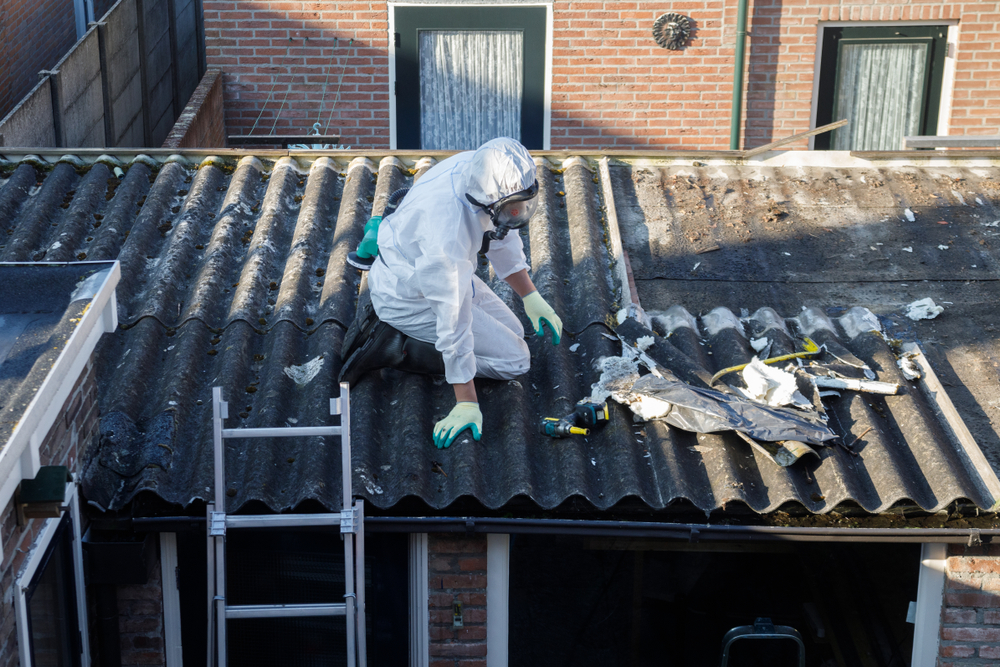
[[[500,136],[545,147],[546,7],[390,11],[397,148],[467,150]]]

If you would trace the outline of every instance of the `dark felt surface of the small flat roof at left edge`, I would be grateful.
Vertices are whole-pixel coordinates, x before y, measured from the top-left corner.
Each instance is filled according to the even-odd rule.
[[[90,305],[95,290],[87,279],[110,266],[0,264],[0,443],[10,439]]]

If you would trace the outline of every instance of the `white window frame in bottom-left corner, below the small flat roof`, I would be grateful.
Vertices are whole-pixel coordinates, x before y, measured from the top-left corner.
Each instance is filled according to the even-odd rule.
[[[75,482],[66,485],[63,504],[69,508],[69,529],[71,534],[71,553],[73,561],[73,592],[76,597],[76,620],[80,630],[79,665],[90,667],[90,641],[85,631],[87,622],[87,599],[83,578],[83,534],[80,527],[80,501],[77,496]],[[31,623],[28,614],[28,591],[34,578],[44,569],[51,556],[52,541],[59,532],[59,527],[66,518],[66,513],[58,519],[45,519],[39,530],[38,538],[32,547],[31,555],[26,559],[21,571],[14,579],[14,616],[17,632],[17,650],[21,667],[34,667],[35,660],[31,645]],[[36,519],[37,521],[37,519]]]

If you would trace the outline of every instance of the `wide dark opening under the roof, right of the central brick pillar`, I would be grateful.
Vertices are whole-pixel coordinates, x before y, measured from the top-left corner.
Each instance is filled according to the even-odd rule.
[[[510,664],[721,664],[767,618],[810,667],[910,663],[920,546],[511,538]],[[737,650],[738,649],[738,650]],[[739,641],[729,665],[798,664],[792,641]]]

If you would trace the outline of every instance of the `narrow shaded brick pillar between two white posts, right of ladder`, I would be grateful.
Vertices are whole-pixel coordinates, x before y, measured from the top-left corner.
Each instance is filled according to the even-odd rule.
[[[486,536],[427,538],[431,667],[486,666]],[[452,607],[462,603],[455,628]]]

